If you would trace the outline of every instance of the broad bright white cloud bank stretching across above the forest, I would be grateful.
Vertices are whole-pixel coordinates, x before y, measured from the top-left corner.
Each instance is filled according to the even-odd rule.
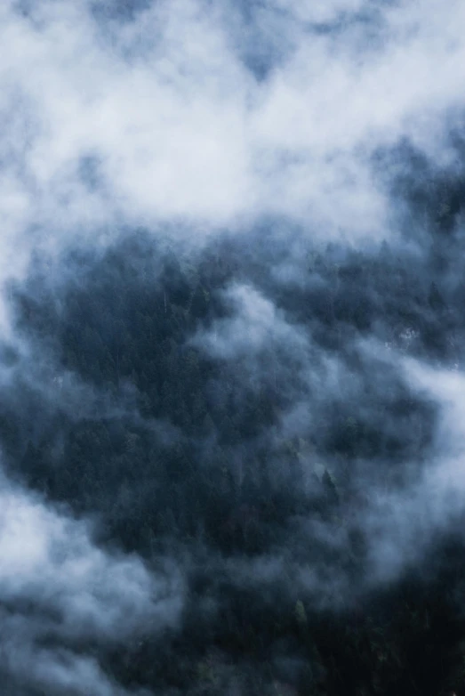
[[[184,220],[198,235],[285,214],[314,236],[387,234],[370,158],[405,137],[448,156],[463,8],[379,4],[373,19],[364,7],[286,4],[274,26],[277,3],[253,4],[248,23],[231,11],[229,25],[229,4],[200,0],[149,4],[129,22],[67,0],[26,14],[5,3],[8,271],[30,239],[62,247],[121,221]],[[352,20],[312,28],[341,12]],[[264,80],[243,60],[243,28],[293,37]]]

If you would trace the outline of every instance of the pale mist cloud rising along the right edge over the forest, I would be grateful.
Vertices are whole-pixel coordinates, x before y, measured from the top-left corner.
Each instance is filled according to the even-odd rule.
[[[360,511],[370,551],[368,580],[375,584],[421,564],[465,513],[465,376],[413,359],[405,359],[404,368],[413,387],[437,403],[440,416],[428,462],[413,463],[412,480],[402,490],[372,487],[369,509]]]

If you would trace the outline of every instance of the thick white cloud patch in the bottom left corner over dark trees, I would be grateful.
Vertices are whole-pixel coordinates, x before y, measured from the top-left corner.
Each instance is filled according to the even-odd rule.
[[[175,568],[150,573],[137,556],[95,546],[65,510],[2,481],[0,668],[19,688],[124,694],[94,651],[176,626],[183,587]],[[15,691],[16,692],[16,691]]]

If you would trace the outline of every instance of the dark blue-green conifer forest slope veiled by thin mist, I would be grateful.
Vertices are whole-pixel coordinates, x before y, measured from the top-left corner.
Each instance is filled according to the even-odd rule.
[[[130,692],[465,693],[463,515],[415,526],[439,406],[401,367],[462,368],[465,198],[410,157],[395,247],[139,229],[9,287],[8,475],[166,573],[160,602],[182,577],[163,629],[66,637]]]

